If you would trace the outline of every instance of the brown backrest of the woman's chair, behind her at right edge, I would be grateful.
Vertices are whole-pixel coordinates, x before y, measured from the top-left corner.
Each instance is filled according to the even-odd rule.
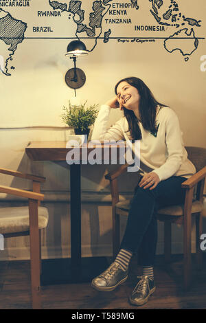
[[[197,172],[206,166],[206,148],[192,146],[185,148],[188,153],[188,159],[192,161]]]

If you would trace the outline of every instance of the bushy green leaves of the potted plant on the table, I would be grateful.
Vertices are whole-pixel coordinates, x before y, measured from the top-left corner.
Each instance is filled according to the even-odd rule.
[[[67,126],[72,126],[78,131],[87,131],[89,126],[95,122],[95,118],[98,116],[97,107],[99,104],[93,104],[90,107],[85,107],[87,101],[81,104],[80,107],[71,107],[71,102],[69,101],[69,108],[63,107],[65,111],[62,115],[62,122],[67,124]]]

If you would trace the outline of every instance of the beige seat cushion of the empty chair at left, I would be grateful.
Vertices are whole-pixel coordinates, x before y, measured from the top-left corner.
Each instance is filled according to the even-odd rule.
[[[49,214],[47,208],[38,207],[38,227],[47,226]],[[0,208],[0,233],[25,232],[30,230],[29,207]]]

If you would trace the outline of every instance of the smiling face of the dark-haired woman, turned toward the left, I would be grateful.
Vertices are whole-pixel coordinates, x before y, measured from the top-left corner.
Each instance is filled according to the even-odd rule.
[[[128,110],[135,110],[139,108],[139,92],[136,87],[122,81],[117,86],[117,98],[119,104]]]

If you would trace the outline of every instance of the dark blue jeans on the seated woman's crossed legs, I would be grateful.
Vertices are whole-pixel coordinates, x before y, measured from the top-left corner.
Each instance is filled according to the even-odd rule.
[[[130,203],[126,231],[121,249],[138,252],[139,265],[153,266],[157,247],[157,210],[169,205],[183,203],[185,190],[181,183],[185,177],[172,176],[160,181],[153,190],[135,188]]]

